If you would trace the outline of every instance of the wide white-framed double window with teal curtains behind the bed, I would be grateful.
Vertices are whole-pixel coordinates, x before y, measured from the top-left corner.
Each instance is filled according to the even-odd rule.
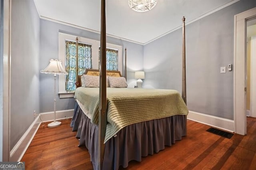
[[[86,68],[99,68],[100,42],[78,37],[78,47],[76,47],[77,37],[59,32],[59,60],[68,72],[68,75],[59,75],[60,98],[74,97],[76,65],[78,65],[78,75],[84,73]],[[107,69],[118,70],[122,74],[122,46],[106,43],[106,47]],[[76,61],[77,50],[78,61]]]

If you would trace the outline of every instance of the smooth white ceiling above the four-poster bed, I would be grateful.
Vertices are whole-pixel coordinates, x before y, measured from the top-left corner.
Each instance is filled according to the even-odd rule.
[[[146,44],[239,0],[158,0],[148,12],[136,12],[128,0],[106,0],[106,32]],[[100,32],[100,0],[34,0],[40,18]]]

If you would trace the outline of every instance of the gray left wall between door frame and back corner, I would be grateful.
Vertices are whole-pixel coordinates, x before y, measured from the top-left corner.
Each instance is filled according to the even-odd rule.
[[[33,0],[12,0],[10,149],[39,112],[40,19]]]

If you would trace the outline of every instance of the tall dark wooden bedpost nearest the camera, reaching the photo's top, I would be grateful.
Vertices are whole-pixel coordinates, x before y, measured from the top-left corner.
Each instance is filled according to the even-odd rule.
[[[100,26],[100,111],[98,123],[98,170],[102,170],[104,158],[104,139],[106,134],[106,0],[101,0]]]

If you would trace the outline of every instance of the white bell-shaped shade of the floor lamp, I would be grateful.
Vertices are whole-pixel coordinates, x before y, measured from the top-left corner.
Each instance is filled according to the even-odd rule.
[[[46,74],[68,74],[65,69],[62,67],[61,61],[58,59],[51,59],[50,64],[43,70],[40,71],[41,73]]]

